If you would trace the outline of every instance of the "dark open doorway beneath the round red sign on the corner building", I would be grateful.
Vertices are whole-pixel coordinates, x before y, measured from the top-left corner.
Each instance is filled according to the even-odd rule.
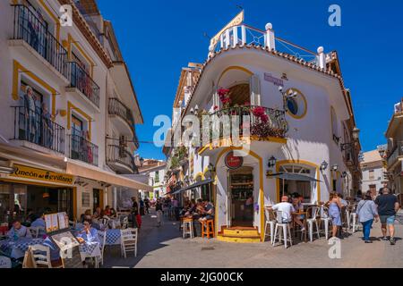
[[[253,168],[229,171],[230,226],[253,227]]]

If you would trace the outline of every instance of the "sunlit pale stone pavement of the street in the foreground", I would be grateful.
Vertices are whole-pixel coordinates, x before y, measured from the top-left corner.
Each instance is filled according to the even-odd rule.
[[[327,241],[298,243],[285,249],[270,243],[234,244],[218,240],[183,240],[178,223],[156,227],[151,215],[143,217],[138,257],[120,257],[120,248],[107,249],[106,267],[403,267],[403,225],[397,225],[397,244],[377,240],[380,224],[373,226],[373,244],[364,244],[362,232],[341,240],[341,259],[330,259]],[[112,256],[111,256],[112,255]]]

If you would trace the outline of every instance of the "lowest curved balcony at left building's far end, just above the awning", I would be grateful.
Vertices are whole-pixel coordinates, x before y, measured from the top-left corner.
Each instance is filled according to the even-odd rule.
[[[107,165],[117,173],[138,173],[133,155],[124,146],[107,146]]]

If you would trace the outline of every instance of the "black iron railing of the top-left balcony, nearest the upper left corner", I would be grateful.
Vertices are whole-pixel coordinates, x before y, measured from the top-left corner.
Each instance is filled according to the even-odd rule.
[[[50,63],[66,79],[68,78],[67,51],[50,33],[29,7],[21,4],[14,7],[13,39],[22,39],[47,63]]]

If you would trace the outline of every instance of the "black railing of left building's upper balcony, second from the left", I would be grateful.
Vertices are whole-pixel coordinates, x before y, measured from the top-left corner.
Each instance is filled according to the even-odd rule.
[[[99,86],[79,63],[70,63],[70,85],[72,88],[79,89],[85,97],[99,107]]]

